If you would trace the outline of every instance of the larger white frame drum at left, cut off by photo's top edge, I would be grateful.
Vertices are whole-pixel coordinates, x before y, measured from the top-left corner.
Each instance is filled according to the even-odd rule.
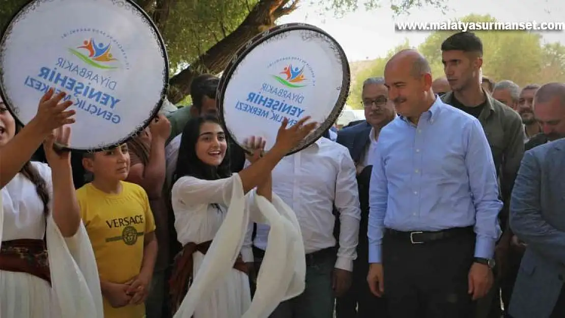
[[[145,128],[166,95],[168,59],[149,16],[131,0],[33,0],[0,41],[0,95],[20,124],[47,90],[76,110],[69,149],[120,145]]]

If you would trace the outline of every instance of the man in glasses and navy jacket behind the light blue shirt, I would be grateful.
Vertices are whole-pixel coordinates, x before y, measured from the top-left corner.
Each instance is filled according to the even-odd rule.
[[[359,243],[357,259],[353,263],[353,281],[347,293],[337,298],[337,318],[370,318],[386,317],[384,299],[371,294],[367,285],[368,238],[367,227],[369,217],[369,180],[372,166],[370,156],[375,152],[381,128],[390,123],[396,116],[394,105],[388,98],[388,89],[383,77],[370,77],[363,82],[361,93],[365,110],[364,123],[342,129],[337,134],[337,142],[349,149],[349,154],[357,168],[357,184],[361,206],[359,224]],[[336,226],[339,228],[339,226]]]

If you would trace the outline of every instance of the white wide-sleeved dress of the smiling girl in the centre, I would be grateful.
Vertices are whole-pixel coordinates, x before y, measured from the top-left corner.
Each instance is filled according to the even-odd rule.
[[[250,218],[247,204],[261,215]],[[172,206],[179,242],[194,247],[184,250],[192,252],[193,279],[175,318],[262,318],[304,290],[302,234],[294,212],[275,194],[273,203],[253,191],[244,196],[237,174],[214,181],[185,176],[173,186]],[[250,219],[271,225],[253,303],[238,265]]]

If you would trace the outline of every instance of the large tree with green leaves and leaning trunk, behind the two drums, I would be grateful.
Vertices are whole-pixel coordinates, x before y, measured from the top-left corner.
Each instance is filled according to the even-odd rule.
[[[253,36],[271,28],[281,16],[299,5],[320,7],[324,12],[372,10],[383,0],[134,0],[151,16],[166,42],[171,62],[168,98],[180,102],[199,73],[218,74],[232,54]],[[3,29],[28,0],[2,0]],[[390,0],[392,14],[431,5],[445,9],[445,0]],[[190,67],[189,67],[190,66]]]

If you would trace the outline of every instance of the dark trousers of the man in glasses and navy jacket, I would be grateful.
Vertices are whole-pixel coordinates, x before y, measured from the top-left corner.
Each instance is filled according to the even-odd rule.
[[[387,318],[386,300],[373,295],[367,283],[369,260],[358,255],[353,262],[351,287],[336,299],[336,318]]]

